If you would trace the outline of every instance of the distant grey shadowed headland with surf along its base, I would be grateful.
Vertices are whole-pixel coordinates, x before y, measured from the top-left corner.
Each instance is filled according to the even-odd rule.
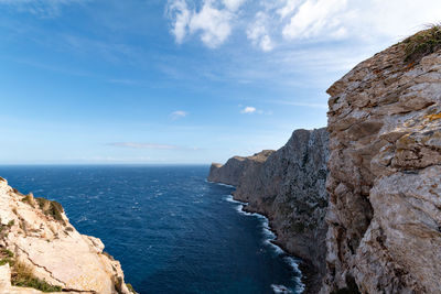
[[[308,265],[311,293],[325,270],[327,144],[325,129],[297,130],[280,150],[213,164],[208,176],[235,185],[234,197],[248,203],[246,210],[269,218],[277,243]]]

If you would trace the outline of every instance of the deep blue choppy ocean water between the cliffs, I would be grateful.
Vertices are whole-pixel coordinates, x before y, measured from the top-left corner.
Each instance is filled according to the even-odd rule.
[[[208,166],[1,166],[23,194],[60,202],[144,293],[299,293],[268,221],[240,211]],[[284,291],[284,292],[283,292]]]

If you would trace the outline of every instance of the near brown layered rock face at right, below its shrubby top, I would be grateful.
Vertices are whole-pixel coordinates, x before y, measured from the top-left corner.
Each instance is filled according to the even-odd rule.
[[[327,90],[323,293],[441,292],[441,53],[406,63],[405,46]]]

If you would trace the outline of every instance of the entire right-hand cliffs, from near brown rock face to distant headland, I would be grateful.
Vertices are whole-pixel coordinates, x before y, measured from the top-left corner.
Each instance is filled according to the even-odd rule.
[[[300,130],[266,160],[212,166],[311,264],[309,292],[441,292],[440,51],[433,26],[331,86],[329,141]]]

